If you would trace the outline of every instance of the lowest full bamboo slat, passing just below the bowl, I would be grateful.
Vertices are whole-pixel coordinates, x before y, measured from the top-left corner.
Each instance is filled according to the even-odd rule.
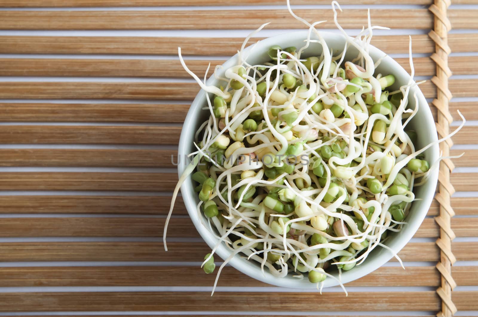
[[[476,307],[474,292],[456,292],[458,309]],[[369,299],[364,302],[363,298]],[[3,293],[0,312],[17,311],[241,311],[247,303],[249,311],[302,312],[313,301],[321,311],[342,311],[352,306],[355,311],[432,311],[439,309],[439,297],[434,291],[424,292],[77,292],[77,293]],[[254,300],[251,300],[254,298]],[[457,298],[458,299],[458,298]],[[406,301],[407,305],[403,305]],[[469,301],[469,303],[467,302]],[[228,305],[224,305],[224,303]],[[108,303],[108,305],[105,305]]]

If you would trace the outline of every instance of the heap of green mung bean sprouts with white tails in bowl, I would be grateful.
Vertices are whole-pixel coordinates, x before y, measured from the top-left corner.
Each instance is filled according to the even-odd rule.
[[[406,223],[413,187],[438,164],[430,167],[422,156],[436,142],[417,150],[416,133],[405,130],[419,106],[414,95],[414,108],[407,107],[410,88],[420,84],[412,79],[411,43],[412,77],[394,91],[394,75],[375,74],[380,60],[368,54],[372,30],[385,28],[371,26],[369,16],[368,28],[354,40],[347,37],[343,52],[332,56],[315,29],[320,22],[309,24],[287,4],[309,27],[304,47],[275,45],[267,52],[269,62],[250,65],[242,52],[254,32],[244,41],[238,64],[219,78],[220,87],[206,86],[189,71],[179,48],[185,70],[207,92],[211,115],[196,133],[197,151],[171,210],[179,186],[196,169],[197,209],[219,237],[205,257],[206,273],[214,271],[213,254],[224,242],[231,255],[217,278],[242,253],[262,271],[266,266],[277,277],[308,275],[318,287],[335,278],[327,267],[335,266],[340,276],[377,246],[388,248],[387,231]],[[347,36],[336,8],[333,1],[334,21]],[[302,56],[311,42],[319,42],[322,53]],[[359,51],[352,61],[344,61],[348,46]]]

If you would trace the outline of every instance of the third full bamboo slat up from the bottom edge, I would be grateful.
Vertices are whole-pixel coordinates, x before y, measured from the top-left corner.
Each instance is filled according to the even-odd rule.
[[[11,242],[0,243],[5,262],[24,261],[202,261],[211,249],[203,242]],[[454,242],[458,261],[477,261],[478,242]],[[408,243],[398,254],[405,262],[436,262],[439,249],[434,242]],[[396,262],[395,258],[391,261]]]

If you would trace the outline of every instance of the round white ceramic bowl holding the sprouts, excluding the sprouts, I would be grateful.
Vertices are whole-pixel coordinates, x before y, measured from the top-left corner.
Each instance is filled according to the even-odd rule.
[[[323,35],[328,47],[333,49],[334,55],[343,50],[345,37],[329,32],[321,32],[321,34]],[[244,51],[244,56],[247,56],[246,60],[250,64],[263,63],[269,60],[269,57],[267,56],[267,50],[272,45],[280,45],[281,47],[295,46],[300,48],[304,46],[304,39],[306,38],[307,32],[305,31],[290,32],[270,37],[246,48]],[[322,47],[318,43],[311,43],[310,47],[304,51],[303,56],[319,55],[321,52]],[[377,61],[379,58],[385,56],[385,53],[372,46],[370,46],[369,54],[374,61]],[[351,60],[356,56],[357,51],[354,48],[349,47],[345,61]],[[236,65],[236,61],[237,54],[223,64],[222,71],[224,72],[229,67]],[[376,74],[378,73],[395,75],[396,81],[392,86],[394,90],[398,89],[401,85],[406,85],[410,79],[410,75],[407,74],[402,66],[400,66],[399,63],[395,62],[389,56],[385,57],[380,63],[380,66],[376,70]],[[217,85],[217,80],[211,76],[211,78],[209,78],[207,81],[207,85]],[[424,95],[416,86],[411,89],[410,96],[413,96],[414,93],[416,93],[418,96],[419,110],[416,116],[410,122],[409,127],[413,128],[417,132],[418,141],[415,145],[416,148],[422,148],[425,145],[436,141],[437,133],[432,113],[430,112],[430,108],[425,100]],[[415,100],[413,97],[409,98],[409,104],[412,107],[414,106]],[[191,153],[195,150],[193,146],[194,135],[199,125],[209,116],[209,111],[201,110],[201,107],[205,105],[205,92],[201,90],[189,108],[189,112],[187,113],[183,125],[178,148],[178,155],[181,158],[184,158],[185,154]],[[428,162],[435,162],[439,157],[438,145],[434,145],[427,149],[424,152],[424,156]],[[180,164],[178,166],[179,175],[182,174],[184,169],[185,165]],[[403,246],[410,241],[410,239],[413,237],[413,234],[418,230],[418,227],[423,222],[435,194],[437,179],[438,169],[435,169],[426,184],[413,189],[415,197],[420,200],[413,202],[410,213],[406,218],[408,224],[403,226],[400,232],[389,233],[391,238],[386,244],[391,248],[391,250],[393,250],[393,252],[398,253]],[[181,187],[181,193],[183,195],[186,209],[191,217],[191,220],[196,226],[197,231],[204,241],[206,241],[206,243],[212,248],[217,243],[217,238],[201,223],[205,222],[206,219],[204,215],[198,215],[196,211],[196,205],[199,202],[199,199],[197,197],[197,193],[194,191],[195,186],[196,185],[193,184],[191,178],[188,178]],[[203,219],[200,219],[200,217]],[[221,246],[217,248],[216,254],[221,258],[226,259],[230,255],[230,251],[224,244],[221,244]],[[369,254],[364,263],[355,266],[350,271],[342,273],[342,283],[345,284],[369,274],[389,261],[391,257],[392,254],[390,251],[381,247],[377,247],[372,253]],[[257,264],[255,261],[248,261],[244,259],[240,254],[236,254],[236,256],[229,263],[240,272],[268,284],[293,288],[315,288],[315,284],[310,283],[307,278],[298,280],[290,275],[284,278],[278,278],[270,274],[267,269],[265,270],[265,275],[263,275],[259,264]],[[324,287],[336,285],[337,282],[332,278],[327,278],[324,282]]]

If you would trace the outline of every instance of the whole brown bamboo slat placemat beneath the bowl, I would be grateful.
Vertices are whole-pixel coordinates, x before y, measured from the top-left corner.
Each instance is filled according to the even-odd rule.
[[[198,92],[177,47],[202,74],[265,21],[263,37],[304,28],[283,0],[0,0],[0,315],[476,316],[477,2],[340,2],[345,28],[370,7],[373,24],[398,29],[372,44],[407,70],[412,34],[440,136],[456,109],[470,121],[442,143],[444,156],[466,155],[441,165],[436,200],[399,254],[406,270],[391,261],[346,297],[227,267],[210,297],[214,276],[199,268],[208,248],[181,201],[163,250],[171,156]],[[329,1],[292,3],[334,28]]]

